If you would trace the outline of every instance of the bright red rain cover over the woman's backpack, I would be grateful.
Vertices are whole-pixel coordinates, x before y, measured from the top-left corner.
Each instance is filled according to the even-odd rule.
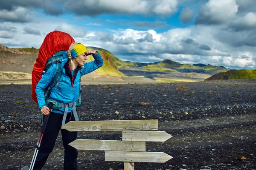
[[[35,94],[35,87],[42,77],[42,72],[44,71],[47,59],[58,51],[68,51],[72,42],[75,42],[75,40],[70,34],[61,31],[50,32],[44,38],[44,42],[39,49],[38,57],[36,58],[36,63],[32,71],[32,99],[36,103],[38,103],[38,101]]]

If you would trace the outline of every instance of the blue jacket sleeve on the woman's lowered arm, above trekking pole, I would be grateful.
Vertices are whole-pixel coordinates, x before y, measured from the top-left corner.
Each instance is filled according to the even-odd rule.
[[[55,77],[57,71],[56,66],[56,64],[52,65],[36,85],[35,93],[38,99],[38,105],[40,109],[47,106],[44,99],[44,92],[49,86],[50,82],[52,82],[52,79]]]

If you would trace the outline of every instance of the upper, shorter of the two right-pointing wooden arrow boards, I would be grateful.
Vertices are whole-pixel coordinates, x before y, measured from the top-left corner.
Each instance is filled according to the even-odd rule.
[[[165,142],[172,136],[159,131],[123,131],[123,141]]]

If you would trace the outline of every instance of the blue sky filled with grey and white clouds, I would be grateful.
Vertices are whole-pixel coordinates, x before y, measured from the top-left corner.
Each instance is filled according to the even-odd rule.
[[[256,69],[255,0],[0,0],[0,43],[40,48],[58,30],[123,61]]]

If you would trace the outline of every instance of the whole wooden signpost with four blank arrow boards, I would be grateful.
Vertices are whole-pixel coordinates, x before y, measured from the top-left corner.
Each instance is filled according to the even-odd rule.
[[[158,120],[110,120],[68,122],[69,131],[122,131],[122,141],[76,139],[69,145],[78,150],[105,150],[105,161],[122,161],[124,170],[134,170],[134,162],[164,163],[172,156],[146,152],[145,142],[165,142],[172,136],[158,129]],[[147,130],[147,131],[146,131]]]

